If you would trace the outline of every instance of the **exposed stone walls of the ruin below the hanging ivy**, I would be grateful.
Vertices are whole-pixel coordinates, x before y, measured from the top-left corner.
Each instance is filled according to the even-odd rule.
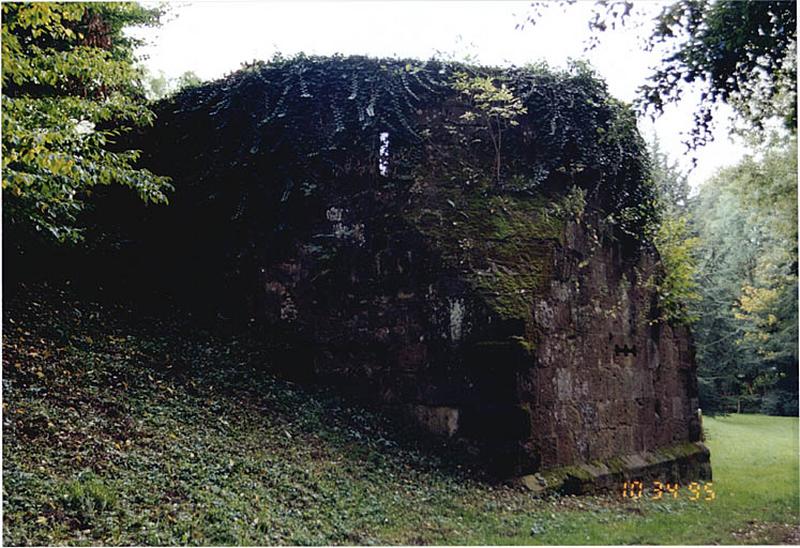
[[[332,197],[262,266],[264,318],[304,341],[303,378],[401,410],[503,476],[700,441],[691,337],[655,321],[651,252],[626,254],[596,216],[540,230],[544,210],[525,210],[541,237],[505,234],[510,263],[474,226],[426,225],[420,211],[443,211],[426,192]],[[707,452],[692,454],[685,474],[708,476]]]

